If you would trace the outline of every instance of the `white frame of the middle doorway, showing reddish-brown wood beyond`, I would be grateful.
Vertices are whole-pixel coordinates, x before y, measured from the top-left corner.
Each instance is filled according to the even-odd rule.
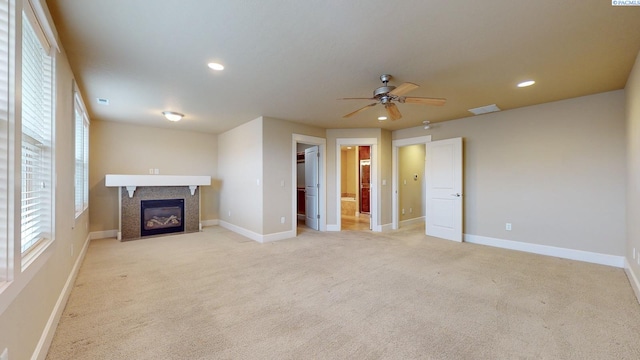
[[[340,148],[342,146],[370,146],[371,147],[371,185],[369,196],[371,198],[371,208],[369,212],[371,230],[380,232],[382,228],[378,225],[378,139],[377,138],[337,138],[336,139],[336,231],[342,230],[341,209],[341,180],[342,157]]]

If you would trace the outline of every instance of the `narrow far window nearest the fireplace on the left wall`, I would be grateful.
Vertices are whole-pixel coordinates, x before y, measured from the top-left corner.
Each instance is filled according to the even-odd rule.
[[[89,118],[80,93],[75,88],[73,96],[75,116],[75,209],[76,217],[89,206]]]

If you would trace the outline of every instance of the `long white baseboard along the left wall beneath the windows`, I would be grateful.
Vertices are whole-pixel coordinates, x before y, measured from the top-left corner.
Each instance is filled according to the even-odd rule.
[[[51,315],[49,315],[49,320],[44,327],[42,336],[40,336],[40,340],[38,341],[38,345],[36,345],[36,349],[34,350],[31,359],[44,360],[47,357],[49,347],[51,346],[51,341],[53,341],[53,335],[55,335],[56,328],[58,327],[58,323],[60,322],[60,317],[62,317],[64,308],[67,306],[67,300],[69,300],[69,295],[71,295],[71,290],[73,290],[73,284],[75,283],[76,277],[78,276],[78,271],[80,271],[80,266],[82,265],[84,256],[87,254],[90,240],[91,234],[88,234],[87,239],[82,246],[82,250],[80,251],[80,254],[78,254],[78,258],[76,259],[76,262],[73,265],[69,276],[67,277],[67,282],[62,288],[60,296],[58,296],[58,301],[56,301],[56,305],[53,307]]]

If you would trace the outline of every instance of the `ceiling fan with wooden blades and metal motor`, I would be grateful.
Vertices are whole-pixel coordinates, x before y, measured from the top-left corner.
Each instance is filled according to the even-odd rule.
[[[376,106],[378,103],[384,105],[387,110],[387,114],[389,114],[389,118],[391,120],[398,120],[402,118],[402,114],[400,114],[400,110],[394,102],[399,102],[401,104],[422,104],[422,105],[436,105],[441,106],[447,101],[446,99],[440,98],[426,98],[426,97],[408,97],[402,96],[409,91],[417,89],[419,86],[414,83],[403,83],[398,87],[388,85],[389,80],[391,79],[391,75],[382,74],[380,75],[380,81],[384,84],[383,86],[375,89],[373,91],[372,98],[342,98],[339,100],[375,100],[376,102],[369,104],[363,108],[360,108],[354,112],[350,112],[347,115],[343,116],[343,118],[351,117],[361,111],[364,111],[370,107]]]

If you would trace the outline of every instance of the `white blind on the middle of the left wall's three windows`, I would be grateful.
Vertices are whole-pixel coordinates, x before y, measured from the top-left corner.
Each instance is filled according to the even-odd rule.
[[[52,228],[52,66],[37,22],[22,19],[21,250],[24,255]],[[33,17],[32,17],[33,18]],[[37,32],[36,32],[37,31]],[[45,47],[47,50],[45,50]]]

